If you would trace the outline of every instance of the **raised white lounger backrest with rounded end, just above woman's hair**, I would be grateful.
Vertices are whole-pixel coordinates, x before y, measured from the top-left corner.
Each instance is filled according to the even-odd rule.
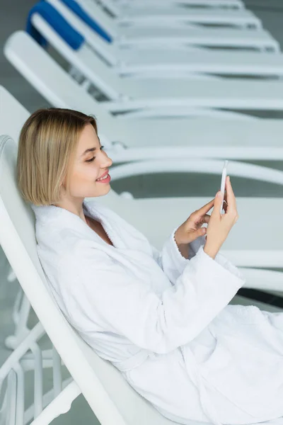
[[[108,140],[116,140],[120,132],[119,121],[103,110],[103,106],[84,91],[25,31],[16,31],[10,35],[4,46],[4,55],[52,106],[95,115],[99,133],[105,134]]]

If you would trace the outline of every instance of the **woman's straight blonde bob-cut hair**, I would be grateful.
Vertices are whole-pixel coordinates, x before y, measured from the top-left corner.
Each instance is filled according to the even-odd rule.
[[[93,116],[61,108],[35,111],[25,121],[18,145],[17,180],[25,200],[35,205],[59,202],[60,186],[68,191],[70,164],[83,128]]]

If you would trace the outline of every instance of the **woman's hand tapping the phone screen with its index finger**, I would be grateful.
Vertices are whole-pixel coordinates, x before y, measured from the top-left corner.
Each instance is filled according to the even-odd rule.
[[[213,205],[214,199],[200,208],[200,210],[192,212],[190,217],[183,222],[183,225],[180,225],[180,227],[176,230],[175,242],[178,245],[180,253],[185,258],[188,256],[187,244],[190,244],[190,242],[206,233],[207,229],[202,227],[202,225],[209,222],[210,215],[208,215],[207,212],[213,207]]]

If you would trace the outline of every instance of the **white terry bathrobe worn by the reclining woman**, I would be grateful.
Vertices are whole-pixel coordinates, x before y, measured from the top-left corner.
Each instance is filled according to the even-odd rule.
[[[253,424],[283,416],[283,314],[228,305],[243,276],[218,254],[171,237],[159,253],[97,201],[79,216],[33,206],[50,288],[81,337],[164,416],[180,424]],[[282,283],[283,284],[283,283]]]

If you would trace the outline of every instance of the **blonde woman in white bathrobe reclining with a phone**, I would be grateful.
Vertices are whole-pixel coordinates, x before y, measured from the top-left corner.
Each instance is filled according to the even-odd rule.
[[[238,218],[229,178],[226,213],[217,193],[158,253],[115,212],[84,202],[110,191],[111,165],[90,116],[51,108],[23,126],[18,185],[33,204],[38,254],[64,315],[173,421],[282,416],[283,314],[228,305],[244,283],[219,254]]]

